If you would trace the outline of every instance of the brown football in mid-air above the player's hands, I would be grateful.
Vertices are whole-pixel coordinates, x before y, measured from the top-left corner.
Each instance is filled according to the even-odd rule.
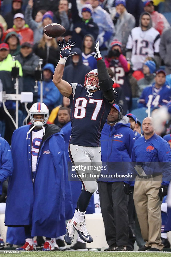
[[[65,28],[59,23],[51,23],[44,27],[43,32],[51,38],[57,38],[65,33]]]

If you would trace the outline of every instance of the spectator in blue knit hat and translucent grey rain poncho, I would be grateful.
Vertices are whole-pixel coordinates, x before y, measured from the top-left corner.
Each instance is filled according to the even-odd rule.
[[[135,27],[135,17],[127,12],[125,0],[116,0],[115,7],[111,8],[110,12],[115,25],[114,38],[122,42],[122,52],[125,54],[128,36]]]

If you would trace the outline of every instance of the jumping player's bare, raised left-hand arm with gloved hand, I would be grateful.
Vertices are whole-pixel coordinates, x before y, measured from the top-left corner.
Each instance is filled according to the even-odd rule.
[[[60,93],[66,97],[69,97],[72,94],[72,87],[67,81],[62,79],[65,62],[67,61],[69,56],[73,54],[77,54],[75,52],[72,53],[70,51],[73,48],[75,42],[73,42],[72,44],[70,43],[71,43],[71,39],[68,40],[67,45],[65,43],[65,39],[63,39],[63,44],[61,43],[61,41],[59,41],[59,45],[61,48],[61,51],[60,51],[61,58],[56,66],[56,69],[53,75],[53,83],[58,88]]]

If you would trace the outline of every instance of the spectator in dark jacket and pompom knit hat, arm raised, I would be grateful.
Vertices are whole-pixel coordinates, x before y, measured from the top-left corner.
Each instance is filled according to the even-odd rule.
[[[78,47],[81,49],[82,46],[82,40],[85,35],[91,34],[94,37],[94,40],[96,41],[97,36],[99,34],[99,28],[96,23],[93,22],[92,19],[92,12],[93,8],[91,4],[85,4],[83,5],[81,14],[82,18],[80,18],[76,0],[71,0],[72,7],[72,20],[73,20],[73,33],[72,33],[72,40],[75,41],[75,47]]]

